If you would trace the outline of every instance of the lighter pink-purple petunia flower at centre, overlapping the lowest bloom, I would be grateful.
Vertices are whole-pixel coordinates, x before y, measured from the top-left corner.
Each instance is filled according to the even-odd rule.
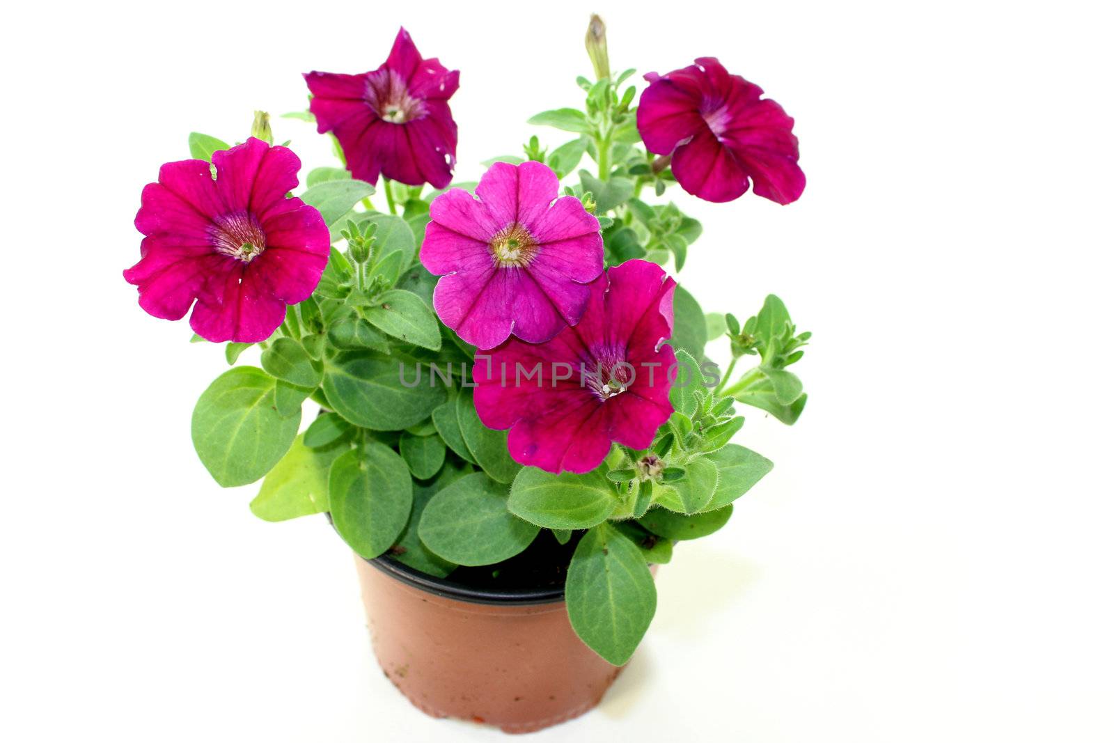
[[[448,274],[433,309],[466,342],[491,349],[514,334],[540,343],[580,321],[604,241],[599,221],[557,187],[541,163],[496,163],[476,186],[479,201],[462,188],[433,199],[421,262]]]

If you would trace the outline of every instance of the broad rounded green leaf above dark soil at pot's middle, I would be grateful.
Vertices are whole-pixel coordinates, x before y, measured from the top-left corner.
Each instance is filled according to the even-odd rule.
[[[467,475],[433,496],[418,536],[458,565],[490,565],[526,549],[538,527],[507,510],[507,486],[482,472]]]

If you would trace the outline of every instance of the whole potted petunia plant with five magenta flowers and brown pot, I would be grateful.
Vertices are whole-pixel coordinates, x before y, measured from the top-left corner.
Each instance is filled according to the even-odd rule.
[[[192,307],[195,340],[226,344],[192,422],[216,482],[262,479],[266,520],[326,514],[388,677],[515,732],[599,701],[654,616],[655,566],[770,471],[733,442],[741,405],[792,424],[805,403],[789,366],[809,333],[773,295],[745,322],[705,314],[671,275],[701,225],[661,201],[795,201],[793,120],[714,58],[646,75],[635,107],[597,17],[586,45],[584,108],[530,119],[570,138],[478,183],[452,179],[458,72],[405,30],[370,72],[310,72],[287,117],[339,165],[301,188],[262,113],[241,144],[190,135],[143,189],[124,274],[149,314]]]

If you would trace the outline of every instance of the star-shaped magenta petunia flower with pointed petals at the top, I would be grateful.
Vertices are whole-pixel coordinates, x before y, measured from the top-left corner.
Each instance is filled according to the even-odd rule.
[[[443,188],[457,162],[457,123],[449,98],[460,82],[436,58],[422,59],[405,29],[379,69],[363,75],[309,72],[317,131],[341,143],[352,177],[379,174],[411,186]]]

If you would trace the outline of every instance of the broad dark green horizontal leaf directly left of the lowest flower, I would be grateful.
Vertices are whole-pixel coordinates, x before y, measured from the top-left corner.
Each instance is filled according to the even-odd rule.
[[[418,383],[403,387],[400,363],[363,353],[329,361],[323,384],[329,407],[350,423],[375,431],[400,431],[421,422],[446,401],[444,388],[430,387],[422,366]]]

